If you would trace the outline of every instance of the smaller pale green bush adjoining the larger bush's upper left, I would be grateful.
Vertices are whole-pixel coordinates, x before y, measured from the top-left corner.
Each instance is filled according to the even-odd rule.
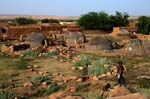
[[[91,60],[91,57],[89,55],[82,54],[79,56],[79,58],[80,59],[74,63],[75,67],[88,66],[91,64],[92,60]]]

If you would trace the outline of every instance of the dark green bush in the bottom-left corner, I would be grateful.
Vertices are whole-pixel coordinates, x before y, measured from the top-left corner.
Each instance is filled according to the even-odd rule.
[[[16,91],[1,90],[0,99],[14,99],[17,96]]]

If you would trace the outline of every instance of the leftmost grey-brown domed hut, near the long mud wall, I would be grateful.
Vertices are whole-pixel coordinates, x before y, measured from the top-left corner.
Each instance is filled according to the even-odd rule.
[[[39,48],[47,45],[47,39],[41,33],[32,32],[26,36],[25,44],[29,44],[31,48]]]

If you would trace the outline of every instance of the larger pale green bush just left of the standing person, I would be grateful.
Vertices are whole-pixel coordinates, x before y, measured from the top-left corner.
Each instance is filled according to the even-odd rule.
[[[109,71],[109,67],[104,66],[106,64],[109,64],[109,61],[106,58],[101,58],[94,61],[92,66],[88,69],[88,74],[99,76],[101,74],[107,73]]]

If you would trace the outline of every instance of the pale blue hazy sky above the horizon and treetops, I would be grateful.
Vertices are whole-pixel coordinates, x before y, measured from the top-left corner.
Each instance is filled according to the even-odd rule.
[[[150,0],[1,0],[0,14],[80,16],[91,11],[150,15]]]

